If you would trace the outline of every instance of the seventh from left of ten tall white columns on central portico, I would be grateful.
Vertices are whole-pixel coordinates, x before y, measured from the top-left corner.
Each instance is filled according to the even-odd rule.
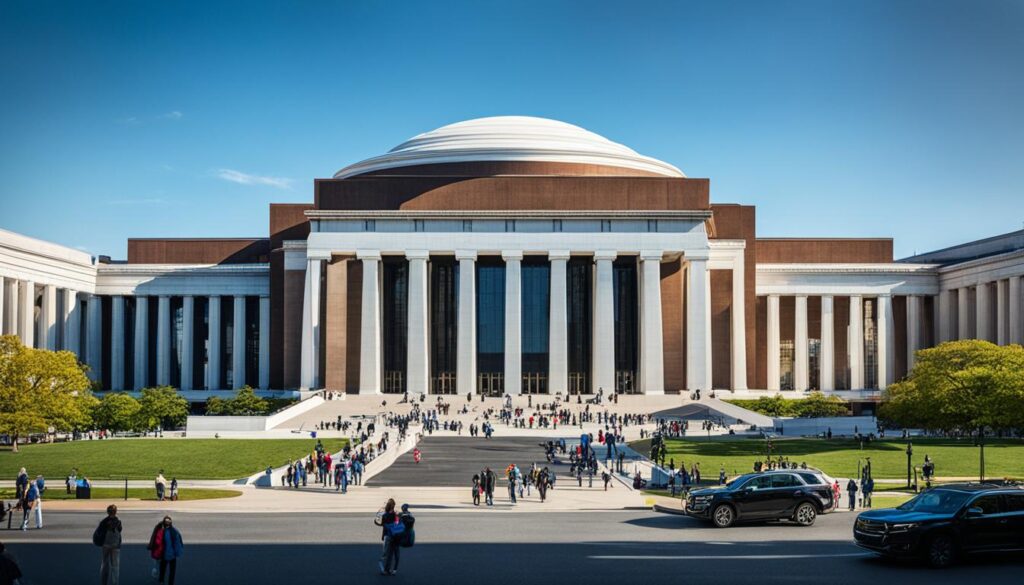
[[[593,392],[615,393],[615,292],[611,262],[616,252],[600,250],[594,253],[594,329],[591,350]]]

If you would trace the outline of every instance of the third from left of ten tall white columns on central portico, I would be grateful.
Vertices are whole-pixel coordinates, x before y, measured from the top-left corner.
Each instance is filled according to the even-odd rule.
[[[411,394],[423,394],[430,391],[430,343],[429,319],[430,307],[427,296],[427,260],[430,253],[426,250],[410,250],[406,252],[409,258],[409,334],[408,353],[406,362],[406,387]],[[463,278],[460,275],[459,278]],[[471,277],[472,278],[472,277]],[[463,351],[463,346],[458,346]]]

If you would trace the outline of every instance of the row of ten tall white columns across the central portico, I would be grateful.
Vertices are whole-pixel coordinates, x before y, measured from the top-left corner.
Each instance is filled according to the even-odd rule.
[[[676,252],[678,255],[679,252]],[[451,255],[451,252],[449,252]],[[456,250],[455,260],[460,274],[475,274],[482,254],[475,250]],[[620,252],[597,250],[574,252],[551,250],[547,252],[550,267],[548,307],[548,392],[566,392],[569,384],[568,361],[568,287],[567,266],[570,257],[586,256],[592,261],[592,312],[590,387],[596,392],[613,391],[615,380],[615,306],[613,262],[622,256],[637,258],[639,304],[639,356],[637,393],[660,394],[665,392],[665,356],[662,307],[660,264],[666,256],[663,250],[634,250]],[[431,253],[427,250],[409,250],[403,254],[408,261],[408,332],[406,380],[410,392],[426,392],[430,387],[430,335],[428,270]],[[504,377],[506,393],[519,393],[522,376],[522,262],[521,250],[495,253],[505,266],[505,325],[504,325]],[[307,255],[304,309],[302,315],[301,386],[318,388],[321,379],[322,333],[321,274],[329,253],[310,251]],[[359,353],[359,392],[382,391],[382,254],[378,250],[358,250],[356,259],[361,263],[361,316]],[[686,387],[708,389],[712,383],[711,359],[711,302],[708,250],[686,251],[683,257],[686,278],[683,293],[686,297]],[[738,274],[738,277],[736,276]],[[734,316],[731,338],[733,349],[734,384],[745,387],[745,326],[743,321],[742,263],[733,270]],[[458,287],[457,339],[457,391],[477,390],[477,291],[473,278],[461,278]],[[330,291],[328,292],[330,294]],[[464,350],[463,348],[471,348]],[[673,388],[676,389],[676,388]]]

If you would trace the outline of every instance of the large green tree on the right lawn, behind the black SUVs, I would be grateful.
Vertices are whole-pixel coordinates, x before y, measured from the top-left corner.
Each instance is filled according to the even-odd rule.
[[[1024,428],[1024,347],[976,339],[918,351],[906,379],[883,394],[879,417],[903,427],[984,435]]]

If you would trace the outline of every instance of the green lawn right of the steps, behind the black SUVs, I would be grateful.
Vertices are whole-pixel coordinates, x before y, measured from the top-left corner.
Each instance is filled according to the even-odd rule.
[[[871,471],[876,478],[906,477],[906,444],[900,441],[873,441],[860,444],[854,440],[834,438],[776,438],[772,456],[786,456],[790,461],[818,467],[833,476],[849,477],[857,473],[858,460],[871,458]],[[650,442],[632,444],[643,454],[650,452]],[[716,441],[670,438],[670,459],[676,467],[685,463],[687,468],[694,461],[700,464],[706,478],[717,478],[719,467],[733,476],[754,469],[754,461],[764,459],[765,442],[755,438],[729,438]],[[970,440],[944,438],[916,440],[913,442],[913,464],[924,463],[925,455],[935,462],[939,477],[977,477],[978,448]],[[1024,477],[1024,441],[990,440],[985,446],[986,477]],[[924,482],[922,482],[924,485]]]

